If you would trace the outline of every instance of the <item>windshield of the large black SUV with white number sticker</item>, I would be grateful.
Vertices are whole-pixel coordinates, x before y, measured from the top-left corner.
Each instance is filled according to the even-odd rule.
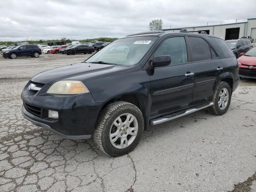
[[[135,65],[156,42],[156,36],[130,37],[116,40],[91,56],[86,63]]]

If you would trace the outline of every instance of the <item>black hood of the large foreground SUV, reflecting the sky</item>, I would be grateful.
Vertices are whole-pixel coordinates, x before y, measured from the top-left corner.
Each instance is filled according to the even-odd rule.
[[[115,68],[114,70],[120,70],[126,68],[126,66],[95,63],[77,63],[41,72],[32,77],[31,81],[43,84],[52,84],[56,81],[64,79],[83,81],[86,78],[91,78],[100,74],[113,72],[113,68]]]

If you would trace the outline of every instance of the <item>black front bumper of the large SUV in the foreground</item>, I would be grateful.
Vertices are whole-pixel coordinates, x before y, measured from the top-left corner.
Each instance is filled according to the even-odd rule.
[[[22,91],[22,115],[35,125],[41,126],[66,139],[89,139],[95,128],[102,104],[90,93],[72,96],[45,94],[50,84],[36,93]],[[48,117],[48,110],[58,111],[58,119]]]

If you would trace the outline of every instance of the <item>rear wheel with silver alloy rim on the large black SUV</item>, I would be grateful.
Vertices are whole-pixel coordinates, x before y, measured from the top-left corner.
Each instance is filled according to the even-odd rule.
[[[214,104],[210,108],[210,112],[216,115],[225,114],[230,106],[231,96],[232,92],[229,84],[221,81],[214,92],[212,99]]]

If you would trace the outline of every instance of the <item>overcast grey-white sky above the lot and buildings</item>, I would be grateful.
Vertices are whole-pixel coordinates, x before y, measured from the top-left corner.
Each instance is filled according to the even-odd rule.
[[[1,0],[0,41],[123,37],[163,28],[256,18],[255,0]]]

